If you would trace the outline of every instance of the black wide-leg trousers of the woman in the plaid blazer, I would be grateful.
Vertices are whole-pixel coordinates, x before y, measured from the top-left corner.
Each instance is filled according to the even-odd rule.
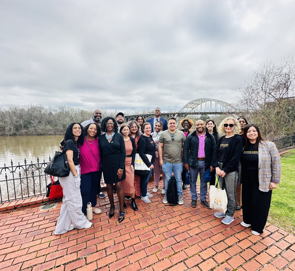
[[[272,190],[262,192],[258,189],[258,169],[242,171],[242,184],[243,220],[246,224],[251,224],[253,231],[263,233],[271,206]]]

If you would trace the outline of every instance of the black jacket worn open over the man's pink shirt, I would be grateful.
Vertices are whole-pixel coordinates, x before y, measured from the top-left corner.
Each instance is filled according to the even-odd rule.
[[[209,168],[214,167],[216,160],[216,143],[214,136],[205,131],[205,166]],[[196,168],[198,165],[198,151],[199,151],[199,137],[197,131],[187,135],[183,146],[183,163],[189,164],[191,168]]]

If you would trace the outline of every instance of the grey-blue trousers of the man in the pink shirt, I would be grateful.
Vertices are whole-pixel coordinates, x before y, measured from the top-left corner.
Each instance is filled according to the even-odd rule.
[[[207,183],[204,181],[205,160],[198,161],[197,168],[189,167],[189,176],[190,176],[189,191],[191,192],[191,199],[197,200],[198,195],[196,192],[196,183],[197,183],[199,172],[200,172],[200,199],[201,201],[206,201]]]

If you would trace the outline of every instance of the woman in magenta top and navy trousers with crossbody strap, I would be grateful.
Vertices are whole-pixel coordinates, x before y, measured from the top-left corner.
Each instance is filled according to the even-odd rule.
[[[101,176],[99,172],[101,158],[98,143],[101,129],[98,124],[89,123],[84,130],[86,133],[84,142],[78,145],[80,150],[82,212],[86,214],[87,204],[91,202],[92,211],[95,214],[100,214],[101,210],[95,206],[97,204],[97,186]]]

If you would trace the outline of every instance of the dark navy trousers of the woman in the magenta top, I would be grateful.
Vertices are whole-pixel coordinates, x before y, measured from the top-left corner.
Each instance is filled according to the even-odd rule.
[[[97,182],[101,172],[94,171],[81,174],[80,191],[82,196],[82,213],[86,214],[87,203],[91,202],[92,207],[96,205]]]

